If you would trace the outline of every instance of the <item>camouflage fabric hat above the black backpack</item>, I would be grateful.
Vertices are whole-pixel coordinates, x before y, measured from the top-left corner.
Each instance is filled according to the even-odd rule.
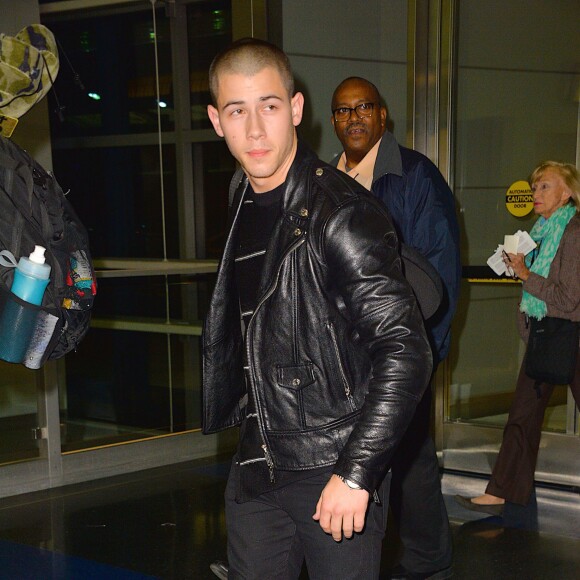
[[[31,24],[16,36],[0,34],[0,115],[18,119],[48,92],[58,74],[52,32]]]

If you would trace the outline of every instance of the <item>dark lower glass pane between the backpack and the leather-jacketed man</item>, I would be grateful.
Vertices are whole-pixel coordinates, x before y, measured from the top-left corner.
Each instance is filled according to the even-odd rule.
[[[198,429],[199,348],[196,336],[171,337],[168,349],[164,334],[92,329],[67,362],[62,450]]]

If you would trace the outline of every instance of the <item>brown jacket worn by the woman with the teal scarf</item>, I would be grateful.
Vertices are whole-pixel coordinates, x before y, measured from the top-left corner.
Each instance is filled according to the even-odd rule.
[[[577,218],[575,218],[577,220]],[[543,300],[550,308],[559,312],[573,313],[580,306],[580,226],[578,221],[566,228],[560,241],[560,247],[554,257],[547,278],[530,273],[523,283],[523,289]],[[557,266],[554,268],[554,266]],[[553,272],[557,275],[554,276]],[[576,320],[577,317],[574,318]]]

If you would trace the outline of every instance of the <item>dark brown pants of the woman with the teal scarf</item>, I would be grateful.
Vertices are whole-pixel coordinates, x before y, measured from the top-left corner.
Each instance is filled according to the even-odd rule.
[[[485,490],[521,505],[527,505],[532,493],[544,413],[554,391],[553,385],[543,383],[538,397],[535,381],[526,375],[524,365],[525,361],[520,368],[499,455]],[[576,405],[580,406],[580,352],[570,389]]]

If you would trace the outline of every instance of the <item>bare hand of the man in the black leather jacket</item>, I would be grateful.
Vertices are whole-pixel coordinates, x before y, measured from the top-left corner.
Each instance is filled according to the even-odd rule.
[[[351,489],[333,475],[320,494],[313,519],[320,527],[332,534],[335,542],[352,538],[354,532],[362,532],[369,503],[369,493],[364,489]]]

